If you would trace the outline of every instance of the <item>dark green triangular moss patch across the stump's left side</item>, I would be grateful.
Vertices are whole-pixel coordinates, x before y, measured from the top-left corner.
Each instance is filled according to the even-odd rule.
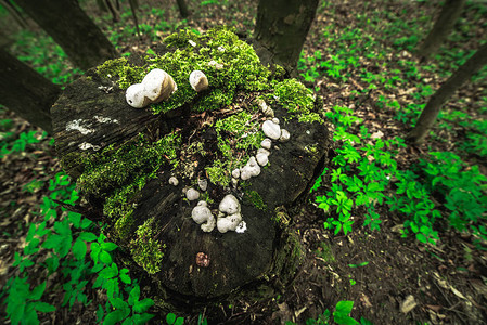
[[[115,234],[125,239],[131,234],[132,212],[142,188],[163,165],[177,161],[180,143],[177,133],[152,143],[140,136],[118,148],[108,146],[90,156],[74,155],[69,157],[72,162],[65,164],[79,164],[82,174],[78,187],[84,194],[104,199],[103,213],[114,221]]]

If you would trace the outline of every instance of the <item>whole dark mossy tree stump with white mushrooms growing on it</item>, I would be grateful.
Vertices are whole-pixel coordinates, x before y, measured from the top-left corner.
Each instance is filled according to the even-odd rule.
[[[155,64],[155,58],[107,62],[68,86],[52,107],[56,150],[88,202],[88,216],[108,225],[106,235],[132,257],[132,268],[145,270],[161,290],[219,297],[271,271],[282,250],[279,208],[292,205],[322,171],[329,133],[309,91],[261,66],[252,47],[227,29],[184,31],[166,43],[178,49],[156,56]],[[170,57],[194,53],[193,66],[172,65]],[[126,75],[106,73],[115,63]],[[125,99],[127,82],[140,82],[153,67],[168,72],[178,90],[167,102],[132,108]],[[209,81],[200,93],[188,82],[196,68]],[[268,83],[247,87],[260,78],[249,68]],[[222,93],[231,101],[221,100]],[[235,182],[232,169],[243,167],[265,138],[260,126],[271,117],[262,113],[264,102],[291,139],[272,141],[260,174]],[[169,184],[171,177],[177,185]],[[205,191],[198,180],[207,180]],[[197,190],[200,199],[189,200],[188,188]],[[193,208],[206,200],[217,217],[228,194],[241,205],[243,229],[203,232],[191,218]]]

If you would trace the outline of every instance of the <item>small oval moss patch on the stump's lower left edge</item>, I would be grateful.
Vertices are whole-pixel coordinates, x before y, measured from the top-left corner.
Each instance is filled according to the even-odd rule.
[[[158,233],[157,227],[154,229],[154,218],[146,220],[136,231],[136,239],[130,242],[130,252],[133,260],[142,266],[149,274],[161,271],[161,261],[163,260],[166,248],[165,244],[161,244],[154,236]]]

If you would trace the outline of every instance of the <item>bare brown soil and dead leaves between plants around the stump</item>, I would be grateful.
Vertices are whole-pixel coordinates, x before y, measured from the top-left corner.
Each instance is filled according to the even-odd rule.
[[[156,1],[140,2],[161,5]],[[326,53],[326,44],[320,42],[320,30],[323,26],[334,24],[336,28],[343,28],[354,25],[357,13],[367,14],[369,11],[382,10],[402,16],[403,20],[418,14],[414,11],[418,4],[413,2],[373,2],[368,6],[364,3],[341,2],[320,10],[305,44],[306,52],[313,53],[321,50],[322,53]],[[89,4],[87,11],[92,15],[100,15],[98,9],[90,5],[94,4]],[[235,6],[191,3],[190,8],[193,10],[193,16],[188,25],[197,30],[206,30],[218,24],[231,24],[242,30],[252,30],[255,22],[255,2],[242,1]],[[434,3],[423,3],[421,8],[432,16],[437,12]],[[139,20],[149,25],[154,23],[152,15],[141,14]],[[176,4],[166,9],[166,20],[179,21]],[[108,21],[104,20],[105,24]],[[485,24],[482,26],[484,27],[475,31],[477,39],[487,34]],[[161,37],[167,34],[162,32]],[[475,48],[475,38],[472,39],[471,42],[462,44],[465,50]],[[149,48],[155,49],[156,43],[146,37],[140,39],[134,37],[130,42],[120,44],[120,49],[143,53]],[[411,56],[409,53],[405,55]],[[424,77],[432,78],[434,89],[444,80],[437,76]],[[351,81],[354,77],[349,80],[347,84],[336,84],[328,79],[320,79],[313,86],[320,83],[319,94],[323,96],[325,107],[336,103],[356,105],[349,102],[346,92],[360,89],[360,84]],[[449,108],[458,109],[461,98],[485,96],[485,82],[465,84],[453,95]],[[363,125],[370,132],[381,130],[385,138],[403,136],[408,130],[405,125],[392,119],[394,112],[379,109],[374,105],[374,100],[380,94],[381,90],[371,92],[368,99],[356,105],[355,114],[363,118]],[[407,98],[402,100],[407,101]],[[464,108],[471,114],[476,114],[475,104]],[[1,113],[1,118],[13,120],[15,133],[39,131],[11,113]],[[430,139],[428,143],[422,146],[408,146],[396,157],[398,165],[408,168],[421,154],[427,151],[451,151],[464,140],[462,138],[464,135],[457,131],[439,130],[437,135],[447,141],[438,141],[436,138]],[[487,162],[478,156],[470,155],[464,158],[479,164],[480,170],[486,173]],[[60,171],[60,164],[53,147],[49,145],[49,139],[2,158],[0,169],[2,287],[18,272],[16,268],[11,266],[14,253],[22,252],[29,223],[40,220],[39,204],[49,193],[47,184]],[[46,181],[47,184],[30,192],[25,191],[26,184],[35,180]],[[360,216],[356,216],[351,233],[347,236],[334,236],[333,233],[323,230],[325,216],[321,209],[313,206],[312,197],[303,198],[289,214],[292,218],[289,231],[298,235],[305,248],[304,261],[293,281],[284,285],[278,285],[274,281],[269,295],[272,298],[255,300],[246,296],[232,302],[208,303],[202,308],[200,314],[207,317],[209,324],[279,324],[285,321],[305,324],[306,320],[316,318],[325,310],[333,312],[335,304],[342,300],[355,302],[351,312],[355,320],[363,317],[373,324],[487,324],[487,251],[475,249],[471,236],[441,230],[440,245],[424,246],[412,237],[402,238],[396,230],[403,220],[396,212],[385,209],[380,211],[383,220],[381,231],[370,232],[361,227],[363,220]],[[29,277],[44,278],[43,272],[43,268],[33,268]],[[61,278],[60,275],[51,276],[51,281],[57,278]],[[150,294],[150,288],[144,286],[143,276],[141,286],[142,295]],[[104,298],[99,297],[97,292],[89,292],[89,299],[101,302]],[[75,304],[69,310],[61,307],[62,297],[55,295],[49,297],[47,302],[54,304],[57,311],[44,316],[42,318],[44,324],[94,323],[95,303],[88,307]],[[413,308],[406,311],[406,304]],[[157,314],[155,323],[161,323],[161,320],[165,318],[165,312],[157,310],[153,312]],[[188,324],[197,323],[197,313],[185,316]]]

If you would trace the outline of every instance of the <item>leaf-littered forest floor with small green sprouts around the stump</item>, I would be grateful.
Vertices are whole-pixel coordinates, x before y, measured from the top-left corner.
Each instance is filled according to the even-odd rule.
[[[101,18],[102,14],[91,6],[93,4],[87,4],[87,10],[116,41],[121,53],[145,53],[178,26],[205,31],[212,26],[226,24],[251,32],[256,14],[255,1],[239,1],[239,4],[230,4],[229,1],[190,2],[193,15],[188,22],[181,22],[176,6],[163,11],[151,6],[156,8],[159,2],[141,3],[139,23],[144,32],[141,38],[133,35],[127,10],[123,22],[114,25],[110,17]],[[325,109],[331,112],[335,105],[354,108],[354,115],[361,118],[361,123],[350,126],[351,131],[348,132],[358,134],[360,126],[366,126],[375,139],[405,138],[419,110],[403,108],[398,118],[398,108],[394,103],[400,107],[416,107],[418,103],[425,103],[428,95],[446,80],[448,72],[452,72],[461,60],[464,61],[465,53],[475,50],[482,36],[487,35],[486,13],[486,3],[469,2],[457,26],[459,31],[443,50],[450,55],[449,60],[436,60],[433,65],[437,69],[431,70],[421,69],[422,63],[414,58],[412,52],[432,27],[437,14],[435,3],[320,3],[305,43],[299,72],[306,84],[323,98]],[[474,23],[469,25],[467,22]],[[26,61],[38,67],[48,66],[43,70],[47,76],[73,70],[68,65],[59,67],[42,61],[34,62],[35,55],[28,53],[34,47],[26,39],[35,39],[38,36],[36,32],[39,31],[34,30],[34,36],[25,36],[24,43],[16,41],[12,46],[17,55],[24,55]],[[349,55],[353,49],[357,50],[355,63],[350,58],[354,55]],[[54,62],[56,51],[48,52],[44,60]],[[346,60],[342,62],[341,57]],[[335,73],[330,73],[332,70]],[[375,76],[379,87],[369,87],[363,81],[364,72]],[[376,77],[381,75],[386,81]],[[399,81],[387,86],[392,76]],[[472,120],[484,121],[487,114],[486,83],[486,80],[476,80],[462,87],[444,107],[448,114],[443,116],[444,122],[438,123],[434,135],[425,144],[398,150],[394,157],[398,168],[413,168],[421,157],[431,152],[454,152],[470,166],[478,165],[479,171],[487,174],[485,138],[486,152],[482,152],[482,147],[477,152],[462,150],[465,147],[463,144],[471,140],[464,125],[451,118],[451,112],[461,110]],[[413,96],[421,92],[424,92],[421,96]],[[3,286],[17,272],[12,266],[14,252],[24,248],[28,224],[41,218],[39,205],[51,193],[49,182],[61,172],[61,167],[50,138],[41,136],[39,129],[13,114],[0,112],[3,121],[0,127],[2,132],[8,130],[11,133],[10,139],[20,139],[21,133],[35,131],[24,141],[25,147],[1,157],[0,284]],[[40,139],[38,143],[34,143],[36,139]],[[338,143],[335,145],[335,150],[338,148]],[[330,155],[333,157],[336,153]],[[318,193],[324,194],[328,188],[322,186]],[[395,196],[396,192],[390,190],[386,195]],[[306,320],[317,320],[325,310],[333,312],[336,303],[344,300],[355,302],[351,311],[355,320],[363,317],[373,324],[487,324],[485,242],[476,246],[475,236],[446,226],[440,229],[445,225],[443,223],[436,225],[439,235],[437,245],[422,244],[413,235],[402,237],[398,230],[405,222],[405,216],[389,210],[386,205],[376,209],[382,220],[380,230],[361,226],[364,217],[358,213],[353,217],[355,223],[351,232],[334,235],[333,230],[323,229],[328,214],[318,207],[315,197],[316,194],[309,195],[289,211],[292,217],[290,231],[298,234],[305,248],[304,261],[293,282],[284,289],[277,290],[271,299],[232,301],[231,306],[218,304],[201,311],[209,324],[279,324],[286,321],[304,324]],[[445,212],[444,199],[437,196],[434,202]],[[40,265],[41,262],[36,261],[36,264]],[[41,277],[44,271],[35,266],[29,276]],[[61,302],[55,297],[51,299],[51,303],[57,307],[55,323],[73,324],[75,320],[76,323],[93,322],[90,315],[94,315],[94,307],[75,304],[68,310],[62,308]],[[196,320],[197,315],[187,316],[189,324],[196,323]],[[52,317],[43,321],[54,322]]]

